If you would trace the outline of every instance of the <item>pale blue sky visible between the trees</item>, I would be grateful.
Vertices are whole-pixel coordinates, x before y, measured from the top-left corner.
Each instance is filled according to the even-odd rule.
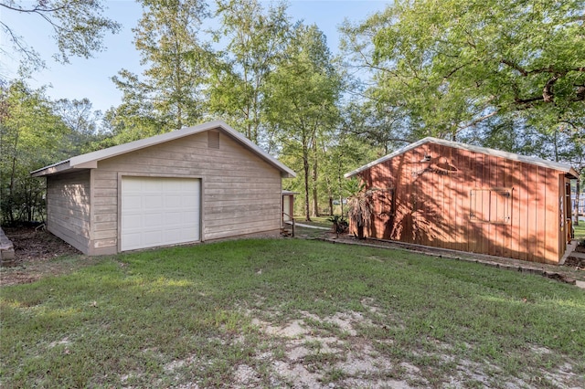
[[[19,2],[33,4],[30,1]],[[293,21],[303,19],[306,24],[316,24],[327,37],[333,53],[338,51],[337,27],[344,20],[363,21],[382,11],[390,1],[339,1],[339,0],[290,0],[288,14]],[[104,39],[106,50],[94,54],[94,58],[70,58],[70,64],[61,65],[52,59],[57,46],[50,37],[51,29],[39,16],[17,14],[0,8],[0,20],[16,30],[27,44],[34,47],[46,60],[48,68],[37,71],[28,80],[32,88],[48,86],[50,98],[80,100],[88,98],[94,110],[105,111],[121,103],[122,92],[114,86],[112,77],[122,69],[141,73],[140,55],[133,46],[132,28],[142,15],[142,7],[131,0],[107,1],[104,15],[122,24],[116,35]],[[268,2],[266,2],[268,5]],[[7,49],[7,39],[0,37],[0,45]],[[16,58],[16,57],[15,57]],[[10,56],[0,58],[0,77],[16,78],[16,60]]]

